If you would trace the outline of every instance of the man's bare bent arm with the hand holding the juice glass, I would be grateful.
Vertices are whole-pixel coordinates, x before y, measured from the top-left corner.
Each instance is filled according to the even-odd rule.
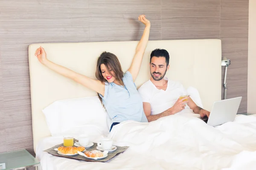
[[[177,102],[172,106],[172,108],[167,109],[166,111],[163,111],[162,113],[151,115],[151,105],[148,102],[143,102],[143,109],[144,113],[148,119],[148,122],[152,122],[154,120],[157,120],[164,116],[169,116],[175,113],[178,113],[182,111],[186,105],[184,105],[187,101],[184,101],[185,99],[188,99],[188,97],[184,97],[183,99],[178,99]]]

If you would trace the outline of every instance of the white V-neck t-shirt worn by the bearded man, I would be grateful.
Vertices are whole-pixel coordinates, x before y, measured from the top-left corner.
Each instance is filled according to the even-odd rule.
[[[164,77],[168,80],[167,77]],[[159,90],[148,80],[138,89],[143,102],[151,105],[151,115],[156,115],[171,108],[177,99],[182,95],[187,95],[187,91],[180,82],[168,80],[166,90]],[[194,113],[188,105],[180,113]]]

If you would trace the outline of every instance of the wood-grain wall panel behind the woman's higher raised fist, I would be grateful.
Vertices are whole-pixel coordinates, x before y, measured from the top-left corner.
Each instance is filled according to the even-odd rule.
[[[145,14],[151,21],[150,40],[161,40],[161,0],[90,0],[90,41],[140,40]]]

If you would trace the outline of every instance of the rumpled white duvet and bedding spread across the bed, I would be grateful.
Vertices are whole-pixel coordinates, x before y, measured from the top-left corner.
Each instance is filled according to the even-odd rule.
[[[93,136],[93,142],[104,136]],[[62,142],[38,144],[42,170],[256,170],[256,115],[208,126],[193,116],[172,115],[150,123],[122,122],[109,134],[115,145],[130,146],[108,162],[52,156],[42,150]]]

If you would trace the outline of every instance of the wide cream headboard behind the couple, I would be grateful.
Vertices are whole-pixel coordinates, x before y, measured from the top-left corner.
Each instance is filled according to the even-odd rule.
[[[36,48],[44,47],[48,59],[88,77],[95,78],[96,59],[103,51],[115,54],[126,71],[134,56],[137,41],[45,43],[29,45],[29,70],[34,151],[38,140],[50,136],[42,109],[59,99],[96,96],[96,92],[49,70],[35,57]],[[184,86],[198,89],[204,108],[221,99],[221,40],[159,40],[149,41],[137,87],[150,78],[150,53],[155,48],[170,54],[169,79],[179,80]]]

